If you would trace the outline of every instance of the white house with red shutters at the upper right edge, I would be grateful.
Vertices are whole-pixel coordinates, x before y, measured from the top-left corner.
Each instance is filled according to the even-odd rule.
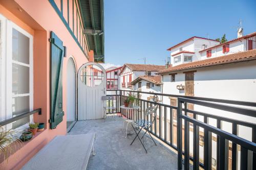
[[[201,59],[220,57],[233,53],[245,52],[256,49],[256,32],[227,41],[225,43],[209,46],[201,51]]]

